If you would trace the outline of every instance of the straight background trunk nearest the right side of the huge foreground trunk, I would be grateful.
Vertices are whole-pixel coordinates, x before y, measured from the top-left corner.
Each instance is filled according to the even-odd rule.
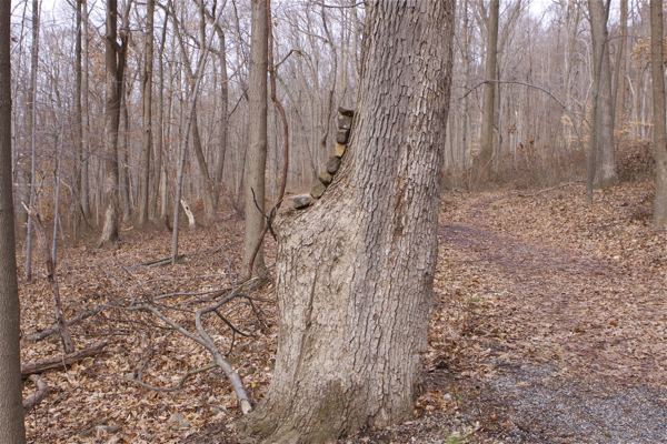
[[[485,80],[496,80],[496,51],[498,47],[498,14],[499,0],[491,0],[487,20],[487,54]],[[479,141],[479,155],[477,175],[480,180],[489,178],[491,169],[491,155],[494,154],[494,117],[495,117],[496,83],[484,84],[484,97],[481,105],[481,139]]]

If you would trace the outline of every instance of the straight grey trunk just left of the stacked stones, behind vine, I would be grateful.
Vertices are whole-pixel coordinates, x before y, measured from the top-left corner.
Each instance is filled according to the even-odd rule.
[[[267,0],[252,0],[252,36],[250,47],[249,89],[248,89],[248,148],[243,173],[243,199],[246,229],[243,232],[243,273],[250,266],[260,273],[266,269],[263,251],[260,250],[250,263],[255,245],[265,224],[265,170],[267,165],[267,72],[269,18]],[[257,205],[257,206],[256,206]]]

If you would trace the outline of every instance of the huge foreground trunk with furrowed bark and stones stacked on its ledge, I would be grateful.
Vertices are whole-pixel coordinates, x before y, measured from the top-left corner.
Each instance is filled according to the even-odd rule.
[[[454,1],[367,3],[352,139],[278,222],[276,372],[246,427],[328,442],[412,414],[437,259]]]

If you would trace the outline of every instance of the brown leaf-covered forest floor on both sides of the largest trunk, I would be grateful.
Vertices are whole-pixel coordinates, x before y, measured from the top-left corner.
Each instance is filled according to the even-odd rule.
[[[650,229],[653,185],[624,183],[584,204],[580,184],[532,195],[447,193],[430,352],[414,418],[340,443],[667,442],[667,232]],[[240,222],[187,231],[176,266],[163,230],[123,233],[116,251],[62,249],[61,297],[79,349],[107,352],[43,374],[53,393],[27,418],[32,443],[243,443],[220,372],[206,351],[155,316],[119,310],[152,299],[193,329],[192,310],[218,301],[239,272]],[[271,263],[268,242],[267,263]],[[21,270],[22,272],[22,270]],[[42,272],[40,271],[40,274]],[[20,282],[26,336],[52,325],[44,279]],[[201,294],[203,292],[207,294]],[[178,294],[175,294],[178,293]],[[198,294],[193,294],[198,293]],[[207,326],[255,403],[271,379],[272,286],[223,305]],[[159,297],[159,299],[158,299]],[[217,299],[216,299],[217,297]],[[215,333],[215,334],[213,334]],[[60,353],[58,336],[22,344],[23,363]],[[24,396],[34,391],[24,384]]]

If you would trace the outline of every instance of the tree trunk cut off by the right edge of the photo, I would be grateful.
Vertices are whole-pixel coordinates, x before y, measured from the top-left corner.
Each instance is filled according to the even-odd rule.
[[[650,0],[650,73],[653,77],[654,145],[656,148],[654,229],[667,229],[667,129],[665,128],[663,27],[663,2]]]

